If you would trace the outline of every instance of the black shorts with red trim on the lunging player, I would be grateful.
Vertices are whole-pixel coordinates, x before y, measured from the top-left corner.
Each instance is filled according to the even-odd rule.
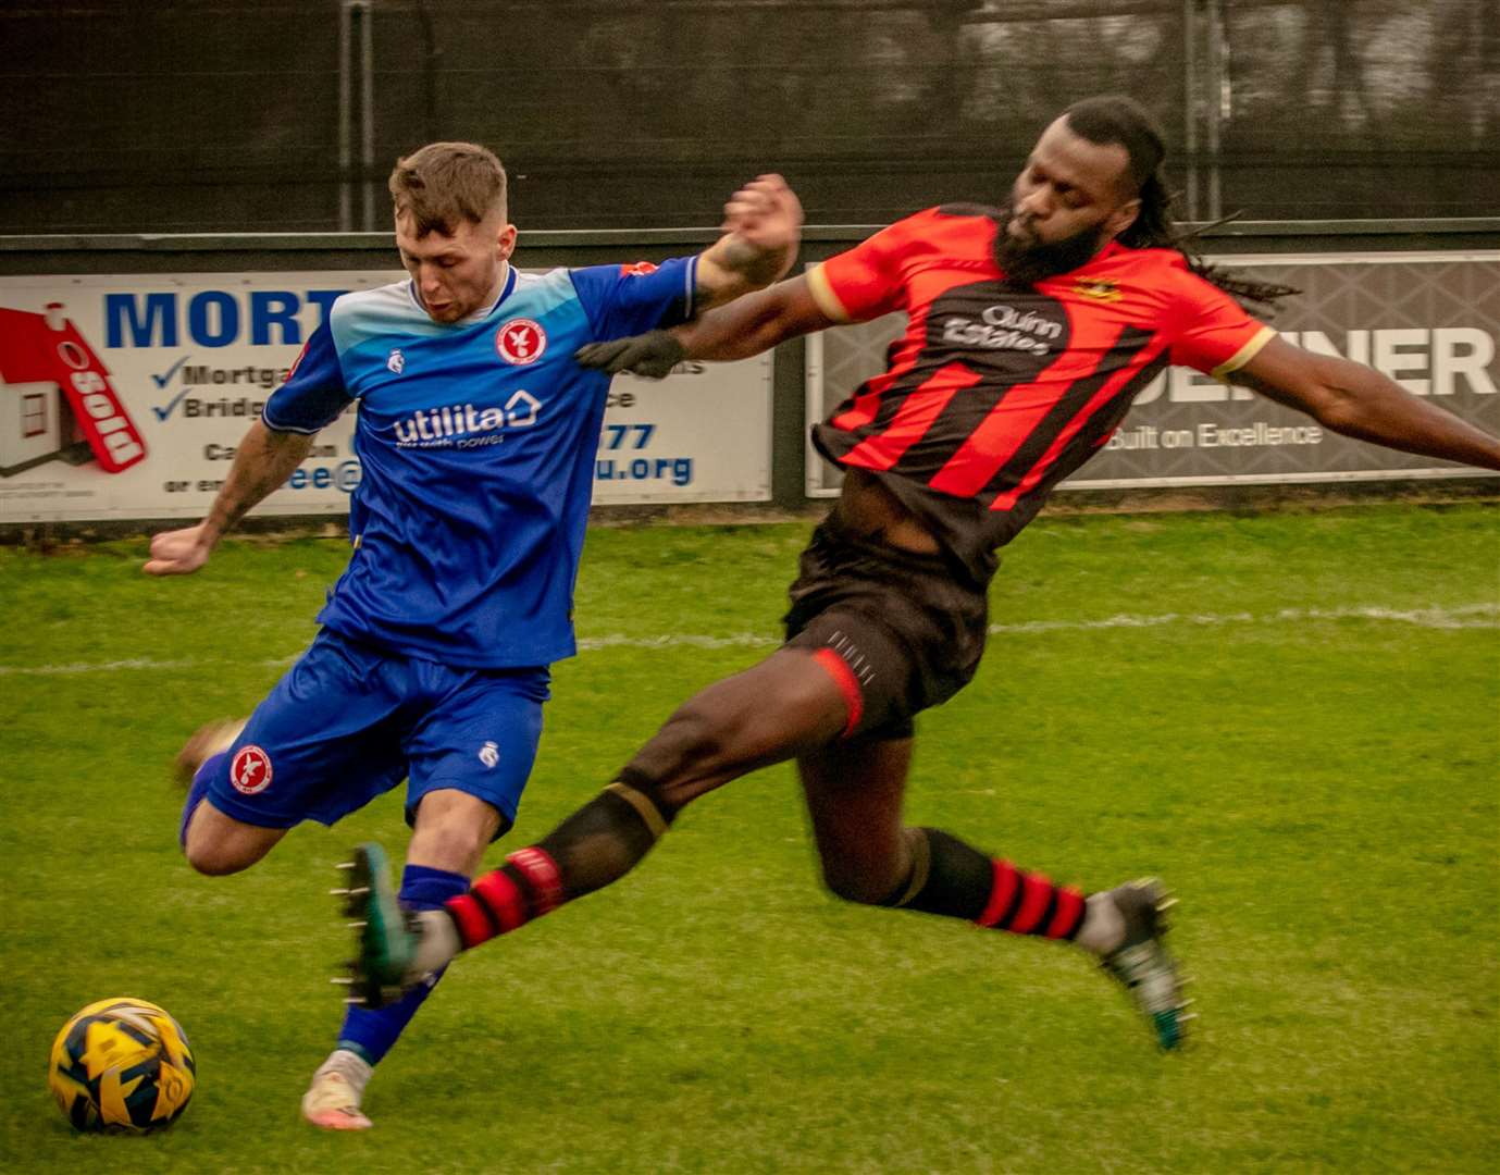
[[[910,738],[912,716],[980,668],[987,593],[942,555],[872,542],[830,518],[802,551],[790,597],[786,644],[819,651],[844,687],[846,737]]]

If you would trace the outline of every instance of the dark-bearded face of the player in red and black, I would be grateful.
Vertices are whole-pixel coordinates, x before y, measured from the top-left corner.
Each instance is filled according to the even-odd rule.
[[[1052,123],[1011,186],[1010,216],[996,251],[1011,276],[1040,281],[1089,261],[1136,219],[1130,155],[1089,143],[1066,119]]]

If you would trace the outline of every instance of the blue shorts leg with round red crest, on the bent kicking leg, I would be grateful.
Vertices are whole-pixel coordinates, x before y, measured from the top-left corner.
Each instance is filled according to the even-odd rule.
[[[386,657],[322,632],[213,768],[207,800],[260,828],[333,824],[406,774],[402,705]]]

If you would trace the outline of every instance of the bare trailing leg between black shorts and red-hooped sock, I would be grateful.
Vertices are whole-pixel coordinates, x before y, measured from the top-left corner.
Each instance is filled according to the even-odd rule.
[[[861,738],[798,756],[818,855],[836,891],[879,900],[904,875],[910,762],[910,738]]]

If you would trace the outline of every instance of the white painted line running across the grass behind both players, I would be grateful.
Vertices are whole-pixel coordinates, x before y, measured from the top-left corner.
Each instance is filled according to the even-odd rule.
[[[1120,614],[1102,620],[1026,620],[1016,624],[990,624],[992,635],[1038,633],[1038,632],[1089,632],[1094,629],[1161,629],[1173,624],[1204,627],[1214,624],[1286,624],[1314,620],[1376,620],[1394,624],[1414,624],[1422,629],[1500,629],[1500,603],[1466,603],[1456,608],[1281,608],[1275,612],[1162,612],[1160,615]],[[602,648],[774,648],[782,644],[776,636],[759,633],[736,633],[734,636],[698,636],[675,633],[664,636],[584,636],[578,647],[580,653]],[[297,659],[268,657],[264,660],[232,662],[225,659],[202,660],[152,660],[132,657],[129,660],[72,662],[68,665],[0,665],[0,677],[69,677],[75,674],[114,674],[156,669],[198,669],[212,665],[264,665],[285,668]]]

